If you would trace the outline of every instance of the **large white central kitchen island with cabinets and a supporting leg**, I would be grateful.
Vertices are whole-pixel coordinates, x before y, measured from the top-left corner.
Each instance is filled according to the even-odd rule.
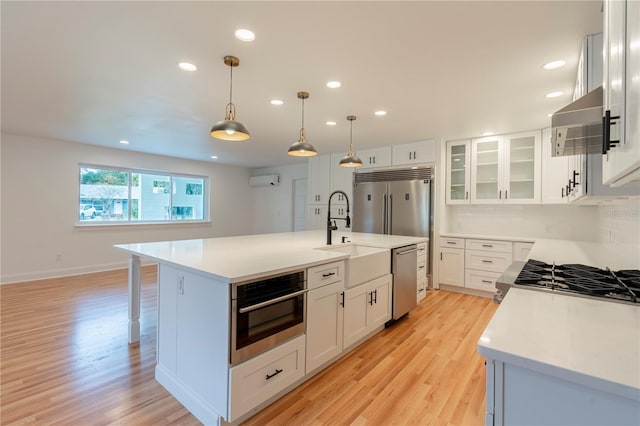
[[[324,231],[118,245],[131,255],[129,340],[139,339],[139,267],[140,258],[146,258],[159,264],[156,379],[205,424],[241,421],[382,330],[391,318],[389,250],[426,242],[393,235],[344,236],[349,242],[335,246],[381,252],[386,269],[347,288],[350,255],[327,250]],[[239,323],[240,314],[272,304],[232,307],[238,286],[300,274],[309,287],[292,294],[300,304],[290,304],[287,317],[303,312],[306,331],[303,322],[302,334],[234,361],[236,316]],[[302,293],[308,297],[297,295]]]

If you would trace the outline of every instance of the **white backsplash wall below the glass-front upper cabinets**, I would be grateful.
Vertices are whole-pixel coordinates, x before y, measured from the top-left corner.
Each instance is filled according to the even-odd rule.
[[[445,216],[443,233],[598,240],[595,206],[447,206]]]

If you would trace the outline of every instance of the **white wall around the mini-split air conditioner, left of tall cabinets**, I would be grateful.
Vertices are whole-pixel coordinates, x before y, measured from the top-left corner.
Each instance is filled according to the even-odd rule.
[[[253,228],[258,234],[293,231],[293,180],[307,178],[307,160],[300,164],[251,170],[251,176],[278,173],[280,185],[253,188]]]

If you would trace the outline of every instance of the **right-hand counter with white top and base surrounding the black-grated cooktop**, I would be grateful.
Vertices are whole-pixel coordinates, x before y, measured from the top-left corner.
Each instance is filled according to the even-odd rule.
[[[529,258],[638,268],[636,256],[591,242],[538,240]],[[513,283],[523,265],[499,281]],[[478,353],[487,360],[487,425],[640,424],[638,304],[511,286]]]

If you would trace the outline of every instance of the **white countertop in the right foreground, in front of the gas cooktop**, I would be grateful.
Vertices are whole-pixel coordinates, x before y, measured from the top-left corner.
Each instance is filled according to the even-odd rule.
[[[640,401],[640,306],[511,288],[478,352]]]

